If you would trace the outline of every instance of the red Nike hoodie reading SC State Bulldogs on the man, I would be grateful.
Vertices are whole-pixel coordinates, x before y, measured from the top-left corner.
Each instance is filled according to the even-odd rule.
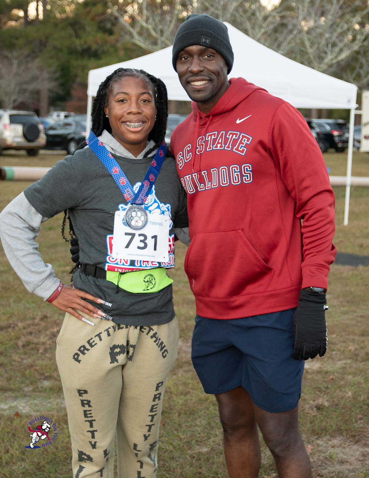
[[[334,193],[306,120],[230,83],[207,115],[192,103],[170,144],[188,199],[185,271],[197,314],[214,319],[296,307],[301,288],[327,289],[336,255]]]

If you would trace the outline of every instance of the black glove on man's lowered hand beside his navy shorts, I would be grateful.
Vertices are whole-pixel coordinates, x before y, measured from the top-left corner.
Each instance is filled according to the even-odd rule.
[[[314,359],[327,352],[325,293],[302,289],[292,322],[294,359]]]

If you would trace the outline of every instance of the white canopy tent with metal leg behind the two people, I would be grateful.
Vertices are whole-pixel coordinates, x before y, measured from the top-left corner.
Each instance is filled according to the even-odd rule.
[[[352,148],[357,87],[301,65],[270,50],[225,22],[234,53],[232,77],[242,76],[265,88],[269,93],[283,98],[295,108],[349,109],[350,129],[348,139],[348,163],[346,176],[346,200],[344,224],[348,224],[348,207],[351,185]],[[88,72],[87,127],[90,130],[92,98],[106,76],[116,68],[138,68],[161,78],[167,86],[170,100],[190,101],[181,87],[172,67],[172,47],[140,56],[133,60],[104,66]]]

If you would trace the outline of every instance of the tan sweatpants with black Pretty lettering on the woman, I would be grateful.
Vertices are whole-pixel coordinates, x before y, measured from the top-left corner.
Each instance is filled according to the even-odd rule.
[[[73,478],[113,478],[115,436],[118,478],[154,478],[163,394],[177,357],[177,320],[126,326],[86,318],[95,326],[66,314],[56,340]]]

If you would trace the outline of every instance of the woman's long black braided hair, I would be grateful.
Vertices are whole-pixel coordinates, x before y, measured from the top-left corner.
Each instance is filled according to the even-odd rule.
[[[167,120],[168,120],[168,94],[167,87],[165,84],[156,76],[150,75],[144,70],[136,70],[134,68],[118,68],[113,73],[105,78],[105,80],[100,84],[99,89],[97,90],[96,97],[94,99],[94,104],[92,106],[92,127],[91,130],[95,133],[96,136],[100,136],[104,130],[111,133],[111,127],[109,119],[105,115],[105,106],[108,102],[109,94],[112,91],[112,87],[122,78],[127,76],[133,78],[142,78],[148,85],[148,88],[155,99],[155,106],[157,109],[156,120],[153,129],[148,134],[148,140],[153,140],[155,142],[154,146],[150,148],[144,155],[148,157],[150,153],[158,149],[162,141],[164,141],[165,133],[167,130]],[[83,149],[86,146],[86,141],[83,141],[77,149]],[[167,155],[171,156],[171,153],[168,151]],[[65,237],[64,231],[66,226],[66,221],[69,222],[69,235],[70,239]],[[66,242],[70,242],[72,245],[71,253],[72,260],[76,259],[76,265],[70,271],[72,274],[80,265],[78,259],[79,256],[75,254],[73,248],[78,248],[78,238],[76,238],[73,224],[69,217],[68,211],[64,211],[63,224],[62,224],[62,236]]]

